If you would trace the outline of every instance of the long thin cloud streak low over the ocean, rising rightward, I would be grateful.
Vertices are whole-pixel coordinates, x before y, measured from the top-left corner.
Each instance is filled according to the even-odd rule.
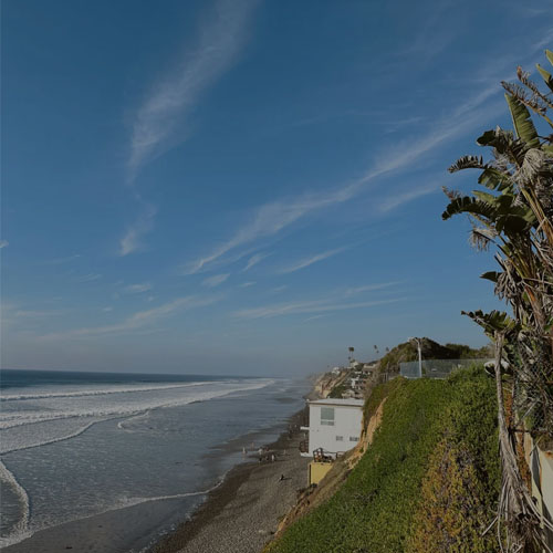
[[[138,311],[117,324],[73,328],[70,331],[44,334],[40,337],[42,340],[66,340],[132,332],[152,325],[160,319],[171,315],[173,313],[210,305],[216,301],[218,301],[218,298],[199,298],[197,295],[178,298],[171,302],[164,303],[158,307],[147,311]]]

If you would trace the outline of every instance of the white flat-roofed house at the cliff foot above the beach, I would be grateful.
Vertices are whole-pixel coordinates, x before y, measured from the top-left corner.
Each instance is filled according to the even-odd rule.
[[[336,457],[354,448],[361,436],[363,421],[363,399],[316,399],[309,401],[310,426],[309,450],[304,455],[311,457],[313,451],[322,448],[326,455]]]

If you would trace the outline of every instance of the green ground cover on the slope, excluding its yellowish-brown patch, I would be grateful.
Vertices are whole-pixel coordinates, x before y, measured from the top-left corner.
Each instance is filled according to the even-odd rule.
[[[387,400],[373,445],[338,492],[290,526],[268,551],[405,551],[416,530],[414,517],[430,456],[446,435],[474,459],[480,482],[474,489],[482,490],[476,499],[488,508],[499,486],[492,384],[483,371],[468,369],[448,380],[397,378],[377,387],[365,414]]]

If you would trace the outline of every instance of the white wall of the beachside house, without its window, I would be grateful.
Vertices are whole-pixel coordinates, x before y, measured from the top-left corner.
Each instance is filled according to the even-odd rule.
[[[321,425],[321,407],[334,408],[333,426]],[[354,448],[361,436],[362,419],[361,407],[310,405],[310,453],[319,448],[333,453]],[[342,440],[336,439],[340,436]]]

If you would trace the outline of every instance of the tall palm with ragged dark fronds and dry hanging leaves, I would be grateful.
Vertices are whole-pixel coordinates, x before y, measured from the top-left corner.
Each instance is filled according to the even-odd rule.
[[[553,65],[553,52],[546,51]],[[492,149],[492,159],[465,156],[449,170],[480,169],[478,182],[489,191],[461,196],[445,189],[450,202],[444,219],[466,213],[478,249],[495,249],[499,271],[482,274],[513,312],[466,313],[495,344],[498,424],[503,486],[500,514],[505,522],[509,551],[531,551],[532,544],[551,551],[540,531],[540,515],[517,463],[518,432],[553,442],[553,134],[541,136],[530,111],[553,128],[553,77],[538,70],[551,92],[542,93],[529,74],[518,69],[520,84],[501,83],[514,133],[497,127],[477,143]],[[504,362],[508,367],[504,368]],[[508,428],[503,393],[512,395],[517,428]],[[514,425],[513,425],[514,426]],[[520,434],[519,434],[520,436]],[[546,523],[547,524],[547,523]],[[553,530],[553,526],[552,526]]]

